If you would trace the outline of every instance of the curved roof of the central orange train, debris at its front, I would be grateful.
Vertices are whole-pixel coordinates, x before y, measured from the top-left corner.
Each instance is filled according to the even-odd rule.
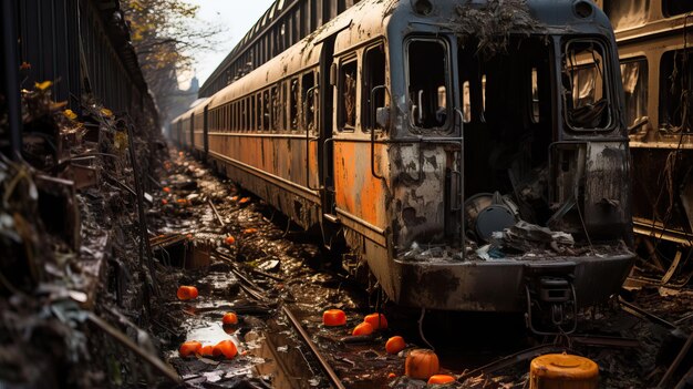
[[[422,11],[426,4],[430,9]],[[387,35],[403,35],[412,24],[480,35],[489,20],[494,20],[494,34],[613,34],[609,19],[591,0],[362,0],[246,74],[242,82],[227,85],[206,104],[221,105],[317,65],[322,40],[334,33],[334,52],[340,53],[385,35],[385,31]]]

